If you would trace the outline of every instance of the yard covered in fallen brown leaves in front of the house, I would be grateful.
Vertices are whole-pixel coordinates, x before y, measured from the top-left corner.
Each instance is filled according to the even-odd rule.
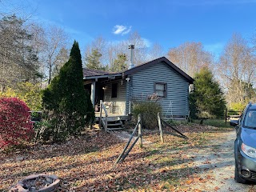
[[[219,143],[210,142],[232,129],[191,124],[178,126],[178,130],[189,139],[165,134],[161,143],[158,134],[147,131],[143,149],[134,146],[125,162],[115,168],[125,142],[103,131],[62,144],[1,152],[0,191],[30,174],[57,175],[62,180],[58,191],[204,191],[195,183],[207,182],[212,175],[200,176],[209,168],[194,165],[197,152],[206,146],[218,150]],[[207,159],[203,163],[207,164]],[[214,190],[218,191],[218,186]]]

